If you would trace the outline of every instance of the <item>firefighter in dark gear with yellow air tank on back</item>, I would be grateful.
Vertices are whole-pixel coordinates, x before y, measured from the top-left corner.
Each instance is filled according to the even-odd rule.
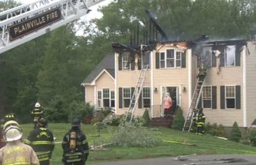
[[[80,120],[74,119],[72,128],[63,138],[63,163],[65,165],[84,165],[89,154],[89,146],[85,134],[80,130]]]

